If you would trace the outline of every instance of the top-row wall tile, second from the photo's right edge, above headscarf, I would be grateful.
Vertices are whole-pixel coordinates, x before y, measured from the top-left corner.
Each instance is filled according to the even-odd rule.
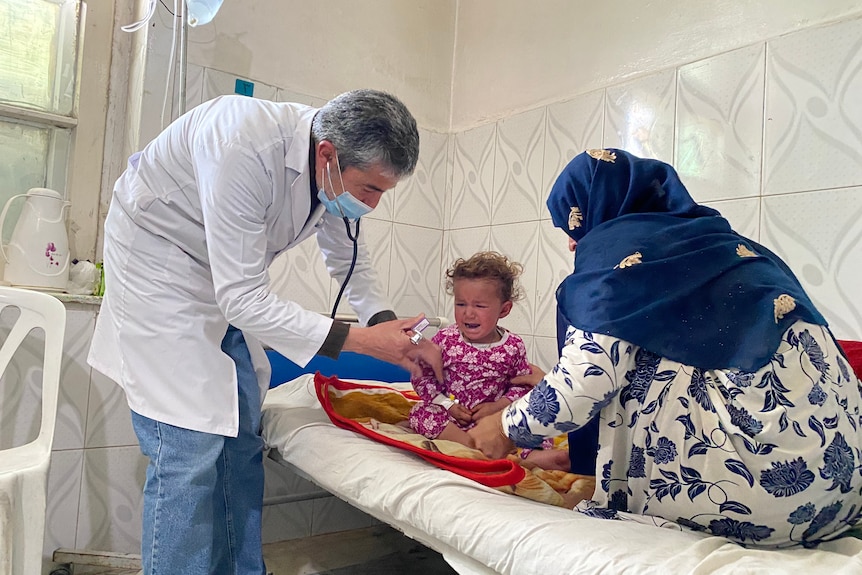
[[[679,69],[675,167],[699,202],[760,194],[765,45]]]

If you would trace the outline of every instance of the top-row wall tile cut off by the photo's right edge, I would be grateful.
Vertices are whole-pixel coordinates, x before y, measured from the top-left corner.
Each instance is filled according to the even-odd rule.
[[[862,184],[862,20],[767,43],[765,192]]]

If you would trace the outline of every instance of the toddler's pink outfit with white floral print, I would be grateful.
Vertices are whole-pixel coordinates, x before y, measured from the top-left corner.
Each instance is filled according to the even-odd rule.
[[[422,398],[410,410],[410,426],[417,433],[433,439],[446,424],[455,421],[448,411],[452,398],[471,409],[502,397],[515,401],[530,391],[527,385],[509,383],[515,376],[530,373],[524,341],[504,328],[498,329],[503,337],[487,347],[464,341],[457,325],[437,332],[433,341],[443,354],[444,382],[438,383],[427,367],[422,377],[413,379],[413,388]],[[462,429],[473,426],[458,425]]]

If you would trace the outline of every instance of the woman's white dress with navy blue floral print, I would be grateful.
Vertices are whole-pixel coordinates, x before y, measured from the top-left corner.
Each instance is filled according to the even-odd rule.
[[[748,545],[813,545],[862,516],[860,395],[823,326],[794,323],[753,373],[705,371],[569,328],[560,363],[503,424],[536,447],[600,418],[599,481],[581,511],[660,517]]]

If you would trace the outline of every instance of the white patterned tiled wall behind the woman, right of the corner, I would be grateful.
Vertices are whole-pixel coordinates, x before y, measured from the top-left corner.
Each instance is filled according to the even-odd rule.
[[[572,262],[544,200],[576,153],[625,148],[673,163],[696,200],[787,260],[838,337],[862,339],[860,45],[862,20],[812,28],[454,134],[444,253],[484,249],[490,223],[491,247],[524,264],[533,290],[502,323],[550,368],[554,291]]]

